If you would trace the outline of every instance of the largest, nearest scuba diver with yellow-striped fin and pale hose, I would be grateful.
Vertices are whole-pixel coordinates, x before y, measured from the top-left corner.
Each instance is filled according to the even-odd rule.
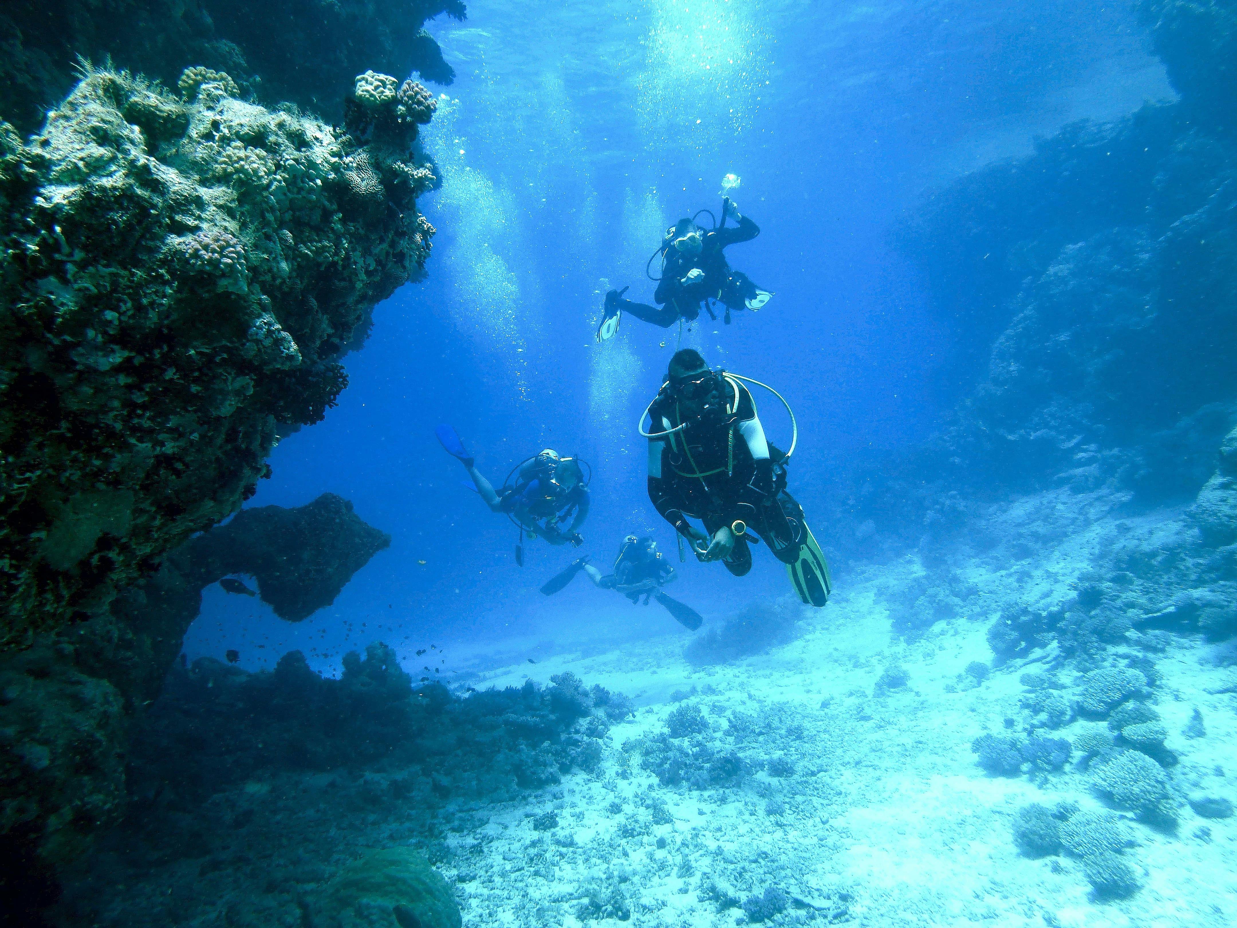
[[[785,564],[799,599],[824,606],[829,565],[803,507],[785,489],[785,465],[798,442],[794,413],[794,438],[783,453],[764,437],[756,402],[740,381],[764,387],[790,412],[768,385],[713,370],[694,349],[675,351],[666,382],[640,419],[640,433],[648,439],[648,497],[679,533],[680,554],[685,538],[700,561],[721,561],[742,577],[752,569],[750,544],[763,539]],[[689,518],[701,520],[705,531]]]

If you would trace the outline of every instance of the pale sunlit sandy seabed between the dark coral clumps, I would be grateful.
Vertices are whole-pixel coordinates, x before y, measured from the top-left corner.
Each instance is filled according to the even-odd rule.
[[[1077,754],[1051,775],[992,777],[976,765],[972,740],[1006,734],[1007,719],[1024,725],[1019,676],[1054,656],[1040,650],[975,681],[967,664],[992,662],[987,620],[1011,595],[1068,585],[1086,563],[1079,554],[1087,542],[1075,537],[1029,569],[972,565],[969,579],[992,608],[938,622],[913,643],[891,636],[881,595],[892,572],[919,569],[908,558],[857,578],[823,612],[804,610],[793,643],[735,663],[688,664],[682,636],[542,661],[534,679],[570,671],[641,708],[611,729],[595,775],[569,775],[531,804],[491,810],[477,834],[453,839],[458,854],[444,872],[459,886],[465,924],[617,923],[628,914],[621,900],[631,924],[742,924],[748,913],[734,903],[768,887],[788,897],[771,919],[787,924],[1237,923],[1237,819],[1202,819],[1183,804],[1175,833],[1165,833],[1126,815],[1134,846],[1124,856],[1142,888],[1100,900],[1079,861],[1032,860],[1012,840],[1014,814],[1028,803],[1103,808]],[[1237,674],[1217,650],[1175,636],[1157,656],[1155,708],[1166,746],[1180,756],[1174,780],[1184,794],[1232,793]],[[892,664],[907,683],[873,695]],[[528,669],[484,677],[520,684]],[[727,719],[755,716],[760,731],[741,754],[753,768],[760,754],[767,767],[781,758],[773,766],[784,775],[757,771],[731,788],[663,786],[642,768],[641,739],[664,733],[669,713],[687,704],[699,705],[710,725],[704,737],[722,749],[736,741]],[[1206,736],[1186,739],[1180,733],[1195,708]],[[1086,724],[1045,734],[1069,739]]]

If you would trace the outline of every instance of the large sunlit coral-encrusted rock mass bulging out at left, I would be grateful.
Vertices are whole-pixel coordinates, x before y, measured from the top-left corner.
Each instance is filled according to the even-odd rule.
[[[4,647],[239,509],[429,254],[411,131],[370,150],[226,74],[182,85],[87,69],[30,144],[0,129]]]

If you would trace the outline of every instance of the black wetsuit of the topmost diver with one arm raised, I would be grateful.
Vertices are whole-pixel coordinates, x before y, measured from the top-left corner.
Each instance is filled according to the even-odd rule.
[[[688,322],[698,318],[700,303],[705,299],[724,303],[727,312],[743,309],[745,301],[756,296],[756,285],[747,275],[731,270],[722,250],[737,241],[751,241],[760,234],[760,226],[747,217],[742,217],[737,226],[705,231],[699,255],[688,255],[669,245],[666,250],[662,280],[653,293],[653,301],[658,306],[620,298],[618,308],[663,329],[680,318]],[[683,283],[683,278],[693,267],[704,271],[704,277]]]

